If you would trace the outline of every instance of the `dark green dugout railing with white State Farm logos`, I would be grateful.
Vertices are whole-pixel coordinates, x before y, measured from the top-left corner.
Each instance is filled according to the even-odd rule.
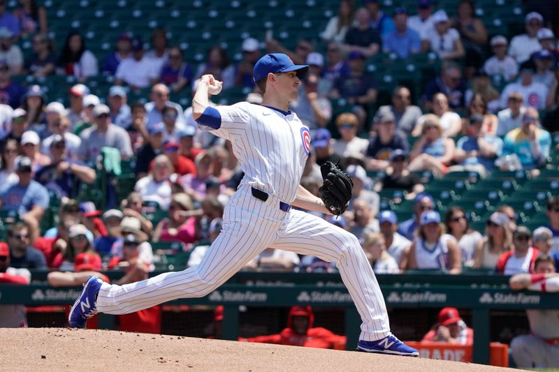
[[[106,273],[112,278],[122,273]],[[157,274],[157,273],[154,273]],[[34,280],[46,273],[35,272]],[[379,275],[386,306],[390,308],[472,309],[474,362],[489,362],[489,311],[499,309],[559,308],[558,296],[540,292],[513,291],[506,276],[404,274]],[[28,306],[71,304],[80,288],[0,285],[0,304]],[[345,308],[347,348],[354,350],[361,319],[340,276],[337,274],[243,272],[221,288],[199,299],[177,299],[169,304],[224,305],[223,336],[238,338],[238,306],[339,306]],[[110,315],[100,319],[103,327],[114,327]]]

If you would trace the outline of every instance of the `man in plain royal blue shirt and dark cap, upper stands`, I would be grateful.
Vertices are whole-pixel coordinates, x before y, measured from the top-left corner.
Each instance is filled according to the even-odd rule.
[[[382,36],[382,51],[395,52],[402,59],[406,59],[409,54],[421,52],[419,34],[407,27],[406,8],[395,8],[394,24],[395,30]]]

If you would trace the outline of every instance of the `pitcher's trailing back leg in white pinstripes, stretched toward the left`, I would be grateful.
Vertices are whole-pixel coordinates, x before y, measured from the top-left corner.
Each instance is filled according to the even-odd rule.
[[[133,313],[173,299],[208,295],[268,246],[277,228],[263,227],[263,223],[250,221],[225,223],[198,266],[126,285],[103,283],[97,311]]]

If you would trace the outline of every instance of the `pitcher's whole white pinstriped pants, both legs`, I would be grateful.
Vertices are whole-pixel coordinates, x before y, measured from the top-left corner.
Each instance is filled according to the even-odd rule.
[[[375,341],[390,333],[377,278],[354,235],[303,211],[281,211],[271,196],[262,202],[249,188],[240,191],[226,207],[223,230],[200,265],[126,285],[104,283],[97,310],[126,314],[173,299],[203,297],[270,247],[336,262],[363,321],[361,339]]]

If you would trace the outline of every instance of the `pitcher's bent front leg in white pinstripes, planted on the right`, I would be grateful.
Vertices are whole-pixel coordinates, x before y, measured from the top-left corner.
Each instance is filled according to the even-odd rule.
[[[314,255],[336,262],[342,281],[361,315],[361,340],[375,341],[390,334],[384,297],[372,267],[355,235],[302,211],[290,212],[289,222],[270,247]]]

